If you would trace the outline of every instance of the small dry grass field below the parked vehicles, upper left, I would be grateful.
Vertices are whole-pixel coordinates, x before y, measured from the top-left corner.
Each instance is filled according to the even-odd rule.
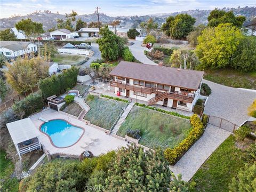
[[[87,57],[83,55],[58,54],[51,58],[53,62],[66,65],[75,65],[77,62],[85,60]]]

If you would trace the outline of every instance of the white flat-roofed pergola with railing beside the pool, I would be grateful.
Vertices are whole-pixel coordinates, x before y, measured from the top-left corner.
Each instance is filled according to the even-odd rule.
[[[41,149],[41,143],[38,140],[40,133],[30,118],[7,123],[6,126],[11,135],[20,160],[22,154],[26,154],[36,149]]]

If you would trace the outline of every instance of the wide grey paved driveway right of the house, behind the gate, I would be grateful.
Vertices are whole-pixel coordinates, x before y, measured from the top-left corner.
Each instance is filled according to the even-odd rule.
[[[256,99],[256,92],[220,85],[205,79],[203,82],[212,90],[204,109],[205,114],[222,117],[237,125],[249,119],[247,108]]]

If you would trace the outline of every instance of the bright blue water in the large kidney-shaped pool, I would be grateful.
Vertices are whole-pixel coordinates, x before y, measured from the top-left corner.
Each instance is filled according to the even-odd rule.
[[[56,147],[69,147],[76,143],[84,130],[62,119],[55,119],[44,123],[41,131],[49,135]]]

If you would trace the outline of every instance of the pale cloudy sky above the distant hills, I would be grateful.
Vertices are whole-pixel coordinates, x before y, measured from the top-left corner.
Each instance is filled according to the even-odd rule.
[[[256,6],[256,0],[0,0],[0,18],[12,15],[26,15],[34,11],[50,10],[60,14],[70,13],[90,14],[95,7],[100,7],[100,13],[110,16],[118,15],[150,15],[155,13],[173,13],[187,10],[212,10],[215,7],[245,7]]]

